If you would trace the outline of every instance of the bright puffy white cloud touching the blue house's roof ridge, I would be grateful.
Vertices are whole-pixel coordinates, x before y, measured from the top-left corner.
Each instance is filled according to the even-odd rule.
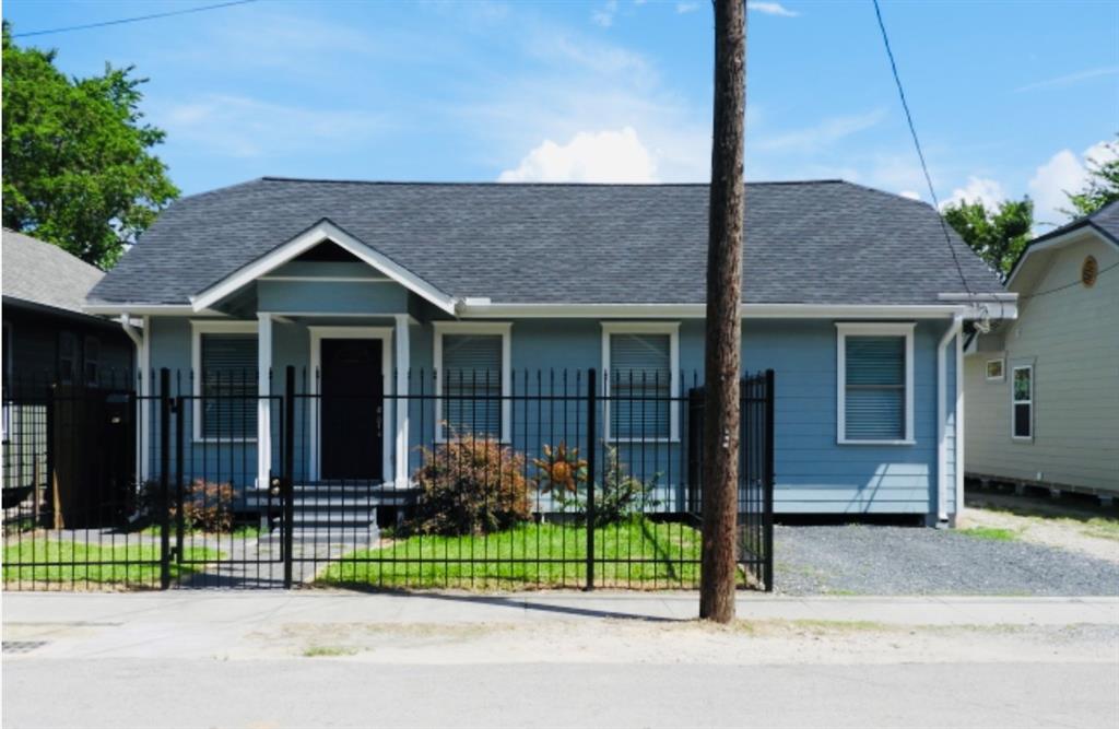
[[[566,144],[551,139],[533,149],[500,183],[656,183],[657,162],[632,127],[580,132]]]

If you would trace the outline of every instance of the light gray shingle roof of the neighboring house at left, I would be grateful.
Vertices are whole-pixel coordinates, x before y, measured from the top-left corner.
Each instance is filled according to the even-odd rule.
[[[104,275],[57,245],[3,228],[4,298],[81,312]]]

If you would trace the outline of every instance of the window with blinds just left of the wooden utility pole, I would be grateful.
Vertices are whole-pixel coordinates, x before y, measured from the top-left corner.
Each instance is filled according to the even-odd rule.
[[[610,335],[610,436],[671,437],[673,340],[668,334]]]

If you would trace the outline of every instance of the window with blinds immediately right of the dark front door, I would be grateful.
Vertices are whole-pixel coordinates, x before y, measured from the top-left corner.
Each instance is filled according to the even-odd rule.
[[[444,437],[501,437],[502,336],[442,335]]]

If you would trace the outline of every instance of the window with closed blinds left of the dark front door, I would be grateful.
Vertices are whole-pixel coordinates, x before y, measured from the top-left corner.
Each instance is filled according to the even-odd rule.
[[[256,337],[203,334],[201,437],[244,440],[256,437]]]

